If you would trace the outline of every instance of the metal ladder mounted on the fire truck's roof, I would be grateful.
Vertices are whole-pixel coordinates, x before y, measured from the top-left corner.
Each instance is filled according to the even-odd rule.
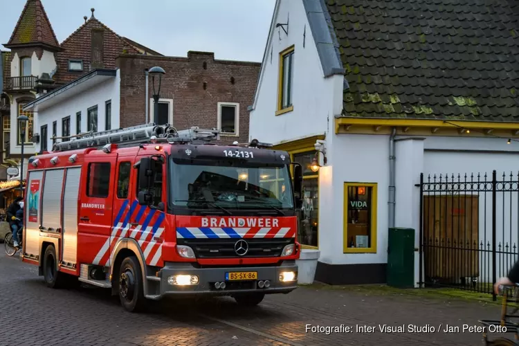
[[[217,129],[200,129],[191,127],[177,131],[170,125],[155,125],[153,122],[124,129],[113,129],[71,136],[53,145],[53,152],[66,152],[86,147],[102,147],[107,144],[117,144],[120,147],[139,145],[143,143],[192,143],[195,140],[219,140],[220,131]],[[80,136],[80,138],[78,138]]]

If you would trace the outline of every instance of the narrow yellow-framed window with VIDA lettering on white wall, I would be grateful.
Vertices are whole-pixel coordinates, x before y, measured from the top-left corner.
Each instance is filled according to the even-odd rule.
[[[344,184],[345,253],[376,253],[376,183]]]

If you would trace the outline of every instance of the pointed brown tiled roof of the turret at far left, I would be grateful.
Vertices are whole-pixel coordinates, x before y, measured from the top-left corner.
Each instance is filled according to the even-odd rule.
[[[60,47],[40,0],[27,0],[15,30],[13,30],[9,42],[4,46],[12,48],[28,44],[46,44],[56,48]]]

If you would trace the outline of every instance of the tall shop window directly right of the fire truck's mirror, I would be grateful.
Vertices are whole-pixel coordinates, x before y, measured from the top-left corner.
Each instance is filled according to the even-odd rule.
[[[319,232],[319,174],[310,169],[315,151],[293,154],[293,162],[303,170],[303,206],[299,218],[298,241],[305,247],[318,247]]]

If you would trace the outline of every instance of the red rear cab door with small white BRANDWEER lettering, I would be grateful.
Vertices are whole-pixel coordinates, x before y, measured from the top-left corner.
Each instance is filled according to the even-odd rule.
[[[113,198],[116,194],[117,154],[87,154],[81,175],[78,220],[80,263],[109,266],[113,229]]]

